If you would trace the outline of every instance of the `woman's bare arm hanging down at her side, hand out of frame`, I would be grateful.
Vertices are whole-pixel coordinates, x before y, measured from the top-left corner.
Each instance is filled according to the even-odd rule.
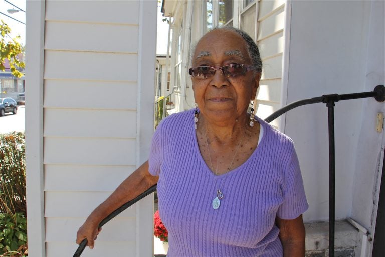
[[[283,246],[284,257],[305,256],[305,226],[302,215],[296,219],[276,218],[279,228],[279,239]]]

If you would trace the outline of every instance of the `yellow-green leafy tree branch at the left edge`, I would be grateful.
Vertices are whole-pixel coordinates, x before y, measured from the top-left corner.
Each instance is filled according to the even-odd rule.
[[[11,74],[17,78],[23,76],[20,71],[25,68],[25,63],[21,60],[24,47],[18,42],[20,36],[12,38],[10,36],[11,29],[3,20],[0,24],[0,70],[5,71],[4,63],[6,59],[10,64]]]

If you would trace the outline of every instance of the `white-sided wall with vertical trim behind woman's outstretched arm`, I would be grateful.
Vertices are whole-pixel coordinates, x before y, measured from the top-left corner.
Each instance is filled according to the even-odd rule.
[[[27,115],[38,116],[26,122],[28,236],[40,245],[29,253],[69,256],[88,214],[148,158],[156,1],[40,1],[27,3],[29,13],[28,60],[44,63],[29,82]],[[121,213],[82,255],[151,255],[152,205],[148,196]]]

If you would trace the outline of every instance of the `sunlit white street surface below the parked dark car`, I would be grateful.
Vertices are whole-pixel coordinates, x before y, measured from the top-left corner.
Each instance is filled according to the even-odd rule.
[[[5,116],[0,117],[0,134],[13,131],[24,132],[26,126],[25,110],[25,106],[22,105],[18,107],[18,113],[16,115],[6,113]]]

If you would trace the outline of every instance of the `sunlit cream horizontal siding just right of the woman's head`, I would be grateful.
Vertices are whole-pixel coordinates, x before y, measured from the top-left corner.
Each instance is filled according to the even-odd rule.
[[[258,7],[257,44],[263,71],[257,95],[257,115],[266,118],[281,108],[282,58],[284,51],[284,0],[261,0]],[[271,122],[278,127],[279,119]]]

